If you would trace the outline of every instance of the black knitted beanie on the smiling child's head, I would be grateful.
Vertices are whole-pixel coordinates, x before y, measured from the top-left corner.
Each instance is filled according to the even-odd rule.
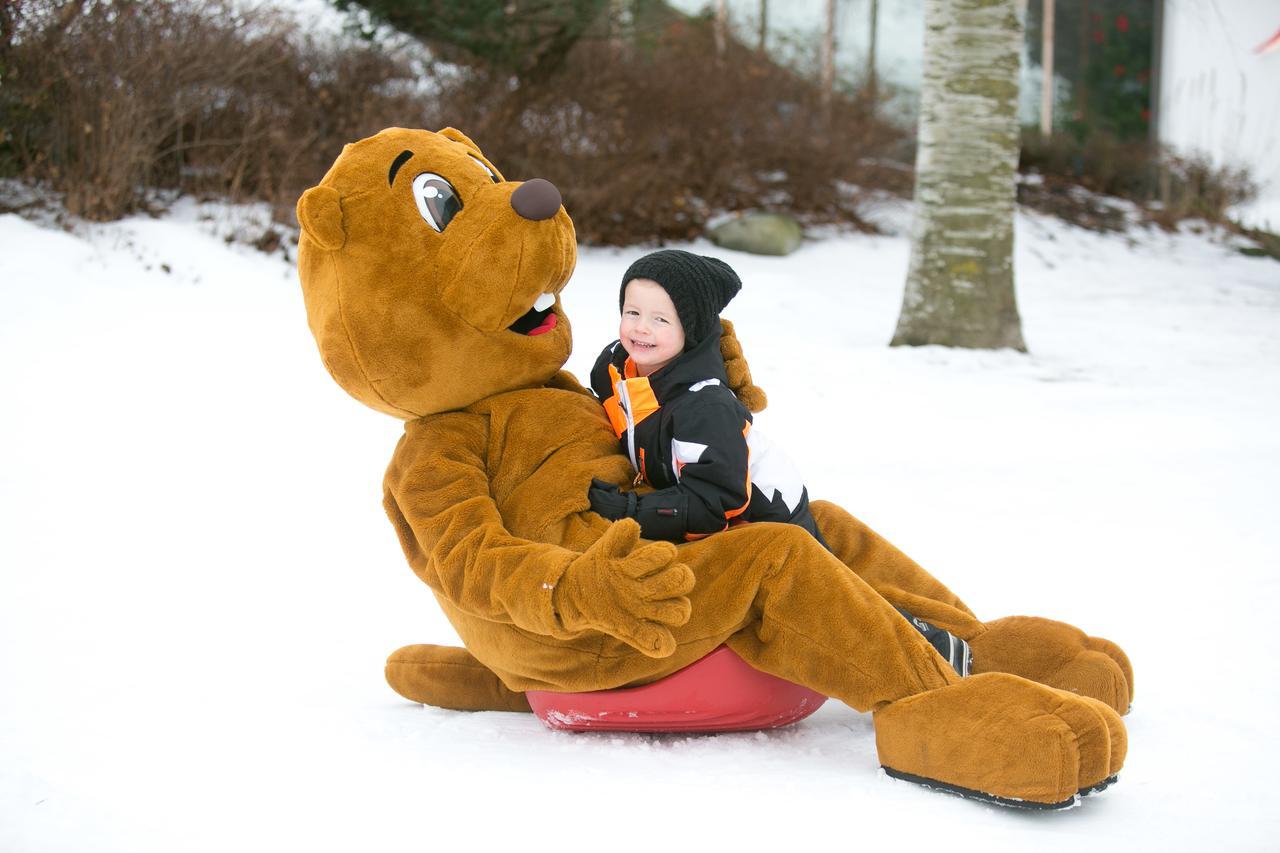
[[[626,301],[627,283],[637,278],[653,279],[667,291],[685,327],[686,350],[710,334],[719,336],[719,313],[742,289],[737,273],[718,257],[663,248],[627,268],[618,292],[620,310]]]

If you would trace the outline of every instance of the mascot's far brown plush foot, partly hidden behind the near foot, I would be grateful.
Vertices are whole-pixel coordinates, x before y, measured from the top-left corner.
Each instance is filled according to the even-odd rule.
[[[983,628],[969,639],[974,672],[1011,672],[1129,712],[1133,666],[1111,640],[1038,616],[1007,616]]]

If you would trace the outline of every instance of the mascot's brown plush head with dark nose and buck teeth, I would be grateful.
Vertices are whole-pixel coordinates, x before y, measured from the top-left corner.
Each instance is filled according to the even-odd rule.
[[[572,341],[577,260],[547,181],[506,181],[462,133],[389,128],[298,200],[311,333],[356,400],[411,419],[545,384]]]

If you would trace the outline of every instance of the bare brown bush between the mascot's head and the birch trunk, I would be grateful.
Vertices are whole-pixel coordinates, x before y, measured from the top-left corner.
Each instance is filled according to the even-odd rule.
[[[860,190],[908,192],[882,158],[902,132],[710,28],[676,19],[649,42],[588,38],[536,88],[475,77],[442,104],[511,178],[559,187],[589,243],[687,240],[722,210],[785,210],[868,228]]]

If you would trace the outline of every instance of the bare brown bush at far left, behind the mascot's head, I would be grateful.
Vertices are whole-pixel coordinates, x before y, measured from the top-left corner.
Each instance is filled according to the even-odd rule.
[[[292,209],[344,142],[431,120],[420,99],[388,93],[388,81],[412,79],[403,63],[291,38],[288,24],[220,0],[19,0],[9,12],[4,165],[88,219],[145,207],[157,188]]]

